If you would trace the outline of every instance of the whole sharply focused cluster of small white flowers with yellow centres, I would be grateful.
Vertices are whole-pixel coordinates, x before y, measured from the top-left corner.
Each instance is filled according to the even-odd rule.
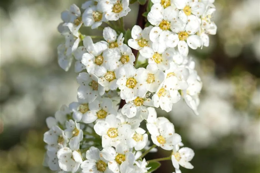
[[[82,15],[74,4],[62,12],[58,29],[65,44],[58,46],[59,65],[67,71],[75,58],[75,72],[80,73],[78,101],[63,105],[55,118],[46,120],[49,131],[44,141],[51,170],[152,172],[157,167],[148,163],[160,159],[146,162],[144,156],[157,151],[155,147],[172,151],[163,160],[172,160],[176,172],[180,166],[193,168],[193,150],[182,147],[174,125],[157,117],[154,107],[169,112],[182,98],[198,115],[202,83],[195,62],[187,57],[188,46],[208,45],[207,34],[216,30],[210,20],[215,8],[210,0],[152,3],[147,18],[154,26],[142,29],[135,25],[128,40],[122,20],[130,11],[128,0],[90,0],[82,4]],[[108,22],[118,19],[120,26]],[[102,22],[109,27],[102,27]],[[92,38],[98,37],[80,33],[81,27],[102,29],[103,36],[94,42]],[[146,61],[138,62],[138,56]],[[141,126],[143,121],[146,127]]]

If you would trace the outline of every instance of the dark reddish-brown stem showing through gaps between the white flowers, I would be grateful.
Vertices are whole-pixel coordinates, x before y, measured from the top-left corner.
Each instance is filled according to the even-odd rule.
[[[145,19],[142,14],[146,11],[147,3],[148,3],[148,1],[146,1],[146,3],[144,5],[139,5],[138,16],[137,16],[137,20],[136,20],[136,25],[139,25],[142,29],[144,29],[144,25],[145,25]],[[136,57],[138,50],[132,49],[132,52],[133,52],[134,56]],[[125,104],[126,104],[126,101],[121,99],[120,104],[119,104],[119,109],[121,109]]]

